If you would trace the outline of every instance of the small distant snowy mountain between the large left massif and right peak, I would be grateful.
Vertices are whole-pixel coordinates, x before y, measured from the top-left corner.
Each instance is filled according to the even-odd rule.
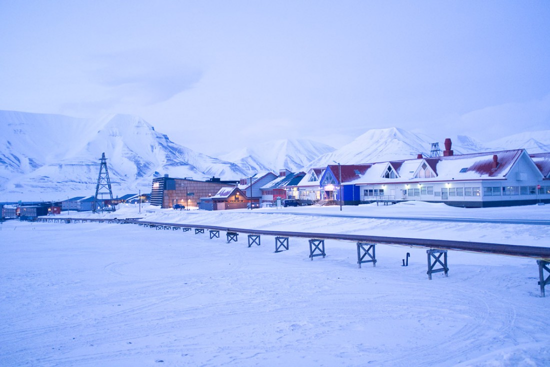
[[[321,155],[334,151],[332,146],[307,139],[286,139],[262,142],[261,147],[248,147],[220,156],[251,172],[287,168],[296,172]]]

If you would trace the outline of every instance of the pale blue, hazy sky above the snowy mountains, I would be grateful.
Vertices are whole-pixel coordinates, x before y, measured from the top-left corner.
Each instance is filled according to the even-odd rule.
[[[550,129],[549,1],[0,0],[0,109],[137,114],[206,154]]]

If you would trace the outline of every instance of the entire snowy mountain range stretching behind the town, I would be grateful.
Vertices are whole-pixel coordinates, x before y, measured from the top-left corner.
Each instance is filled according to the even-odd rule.
[[[237,180],[256,172],[300,171],[333,162],[368,163],[430,155],[434,140],[403,129],[373,129],[333,147],[305,139],[262,142],[215,158],[156,132],[145,120],[116,114],[81,119],[55,114],[0,111],[0,202],[62,200],[94,195],[105,152],[113,194],[149,192],[155,177]],[[446,138],[446,137],[445,137]],[[526,148],[550,151],[550,130],[523,133],[483,145],[451,136],[455,154]],[[444,138],[443,138],[444,139]],[[443,144],[440,144],[443,150]]]

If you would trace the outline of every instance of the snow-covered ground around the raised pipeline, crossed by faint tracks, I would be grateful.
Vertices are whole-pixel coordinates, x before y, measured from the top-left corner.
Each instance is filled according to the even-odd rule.
[[[550,247],[541,225],[293,212],[340,213],[123,206],[103,216]],[[365,205],[342,213],[548,220],[550,205]],[[436,273],[430,281],[425,249],[377,245],[376,267],[359,269],[350,242],[327,240],[326,258],[311,261],[306,239],[290,238],[288,251],[274,253],[273,237],[251,248],[244,234],[237,243],[224,237],[131,224],[4,222],[0,365],[550,365],[550,297],[540,297],[535,260],[449,251],[449,277]]]

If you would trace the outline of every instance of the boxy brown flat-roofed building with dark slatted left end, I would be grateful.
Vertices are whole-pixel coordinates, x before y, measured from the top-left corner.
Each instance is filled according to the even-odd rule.
[[[222,182],[217,178],[199,181],[189,178],[173,178],[165,175],[153,179],[151,205],[171,208],[175,204],[186,208],[199,207],[200,198],[216,195],[222,188],[234,188],[237,182]]]

